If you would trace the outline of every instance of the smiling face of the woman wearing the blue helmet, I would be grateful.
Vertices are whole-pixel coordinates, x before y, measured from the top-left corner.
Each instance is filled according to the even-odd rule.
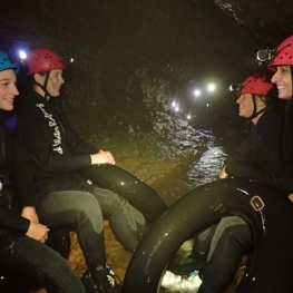
[[[13,109],[14,97],[19,95],[16,82],[17,77],[12,69],[0,71],[0,109]]]

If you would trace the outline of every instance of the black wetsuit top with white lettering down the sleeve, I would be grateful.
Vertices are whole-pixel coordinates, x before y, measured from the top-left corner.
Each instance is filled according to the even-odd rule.
[[[77,135],[53,99],[30,91],[18,98],[17,114],[33,157],[38,192],[78,189],[77,170],[89,167],[90,154],[98,149]]]

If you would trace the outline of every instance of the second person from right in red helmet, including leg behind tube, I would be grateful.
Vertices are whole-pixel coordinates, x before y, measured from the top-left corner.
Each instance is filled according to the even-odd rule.
[[[267,75],[247,77],[238,91],[238,115],[251,120],[252,129],[226,159],[219,178],[227,176],[257,178],[280,187],[284,170],[281,158],[282,113],[273,107],[273,84]],[[211,242],[207,263],[202,268],[198,293],[225,292],[233,281],[241,258],[252,250],[251,231],[237,216],[222,218]]]

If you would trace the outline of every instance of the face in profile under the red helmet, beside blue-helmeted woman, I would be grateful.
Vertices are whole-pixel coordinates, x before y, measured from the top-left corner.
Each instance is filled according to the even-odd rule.
[[[45,86],[47,74],[35,74],[35,79],[38,84]],[[47,82],[47,91],[50,95],[50,97],[59,97],[60,96],[60,89],[64,85],[65,80],[62,78],[62,69],[56,69],[52,71],[49,71],[49,78]],[[45,91],[40,87],[36,87],[36,90],[45,97]]]

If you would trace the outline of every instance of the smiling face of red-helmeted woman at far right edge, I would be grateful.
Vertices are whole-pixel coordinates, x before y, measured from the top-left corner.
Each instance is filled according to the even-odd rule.
[[[276,85],[277,97],[280,99],[292,98],[292,77],[290,66],[277,66],[276,71],[272,77],[272,82]]]

